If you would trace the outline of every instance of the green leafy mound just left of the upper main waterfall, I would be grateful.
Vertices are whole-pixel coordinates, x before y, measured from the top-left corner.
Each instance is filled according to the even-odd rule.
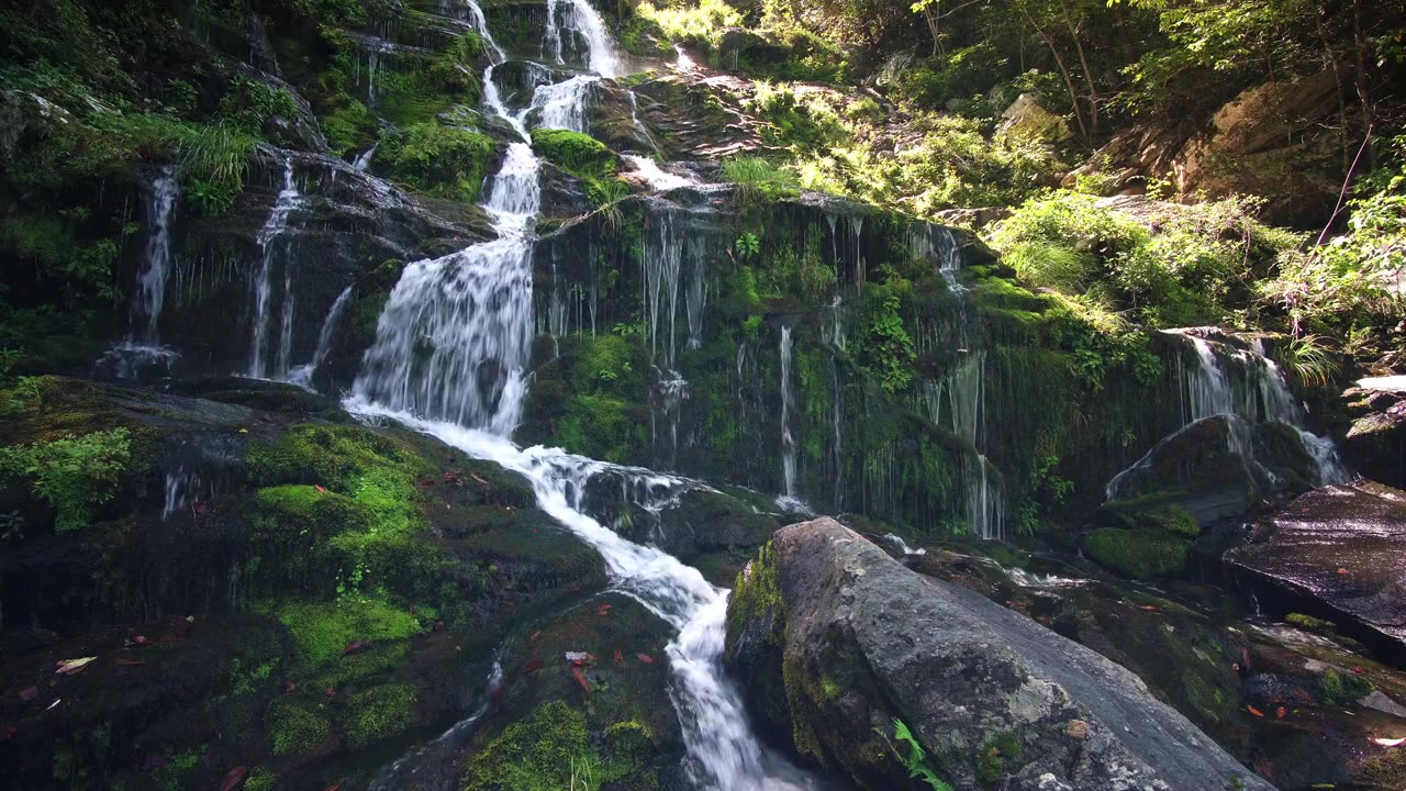
[[[420,191],[478,200],[494,155],[494,138],[457,127],[413,124],[381,141],[374,162],[391,179]]]

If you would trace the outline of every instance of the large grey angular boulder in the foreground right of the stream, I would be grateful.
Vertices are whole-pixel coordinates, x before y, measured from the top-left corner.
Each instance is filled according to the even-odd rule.
[[[865,788],[907,783],[896,721],[953,788],[1272,788],[1128,670],[832,519],[773,543],[734,593],[727,662],[765,726]]]

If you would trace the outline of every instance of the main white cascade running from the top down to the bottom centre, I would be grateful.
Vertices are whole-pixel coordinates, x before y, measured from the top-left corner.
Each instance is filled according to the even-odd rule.
[[[471,1],[468,6],[470,18],[482,24],[481,10]],[[662,498],[643,504],[647,510],[666,507],[685,481],[558,449],[519,449],[508,439],[522,415],[533,338],[533,227],[541,194],[540,163],[527,145],[529,114],[540,110],[538,125],[571,128],[585,117],[586,89],[600,77],[617,76],[620,69],[605,25],[589,3],[553,0],[548,13],[544,51],[560,59],[562,39],[569,37],[585,48],[595,75],[538,87],[527,108],[512,113],[494,83],[503,51],[482,25],[481,34],[495,55],[482,79],[484,101],[522,139],[509,146],[502,167],[491,177],[484,204],[498,238],[405,267],[346,405],[371,419],[401,421],[526,476],[538,507],[600,553],[613,588],[678,632],[668,646],[669,692],[683,728],[689,768],[700,787],[807,788],[808,780],[762,750],[737,690],[723,673],[728,591],[658,548],[620,538],[582,508],[586,483],[600,473],[624,474],[640,483],[641,491],[661,493]],[[456,728],[461,732],[465,723]],[[396,777],[413,773],[408,764],[413,764],[409,756],[396,761],[374,787],[396,787]]]

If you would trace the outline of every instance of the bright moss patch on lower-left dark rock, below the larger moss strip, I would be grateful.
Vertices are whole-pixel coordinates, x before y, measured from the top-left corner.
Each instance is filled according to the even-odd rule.
[[[347,597],[339,602],[287,602],[278,621],[288,628],[311,664],[340,656],[354,640],[375,643],[419,635],[419,619],[374,598]]]

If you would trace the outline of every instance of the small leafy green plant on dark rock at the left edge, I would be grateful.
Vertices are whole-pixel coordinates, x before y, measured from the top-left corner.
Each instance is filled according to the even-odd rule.
[[[89,525],[93,508],[115,494],[129,460],[125,428],[0,448],[0,472],[32,480],[34,494],[58,511],[59,532]]]

